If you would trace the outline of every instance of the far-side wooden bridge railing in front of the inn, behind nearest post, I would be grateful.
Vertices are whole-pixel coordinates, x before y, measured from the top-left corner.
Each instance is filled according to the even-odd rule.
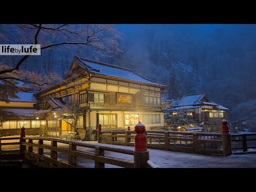
[[[149,148],[222,155],[222,134],[180,131],[145,131]],[[134,146],[135,131],[101,131],[99,142]]]

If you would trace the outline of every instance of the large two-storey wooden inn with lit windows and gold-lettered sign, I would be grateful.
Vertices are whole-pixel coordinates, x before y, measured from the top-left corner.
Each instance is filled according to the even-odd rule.
[[[149,130],[164,126],[161,91],[166,88],[132,69],[75,56],[64,81],[34,94],[38,102],[33,114],[45,117],[49,137],[74,132],[57,113],[70,99],[79,101],[80,135],[92,135],[98,124],[102,130],[133,130],[139,121]]]

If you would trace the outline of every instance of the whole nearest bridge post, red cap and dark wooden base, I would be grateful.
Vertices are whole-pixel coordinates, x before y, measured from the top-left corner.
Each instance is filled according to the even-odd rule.
[[[135,125],[137,135],[134,136],[134,167],[147,168],[147,161],[149,160],[149,152],[147,150],[147,136],[145,126],[142,123]]]

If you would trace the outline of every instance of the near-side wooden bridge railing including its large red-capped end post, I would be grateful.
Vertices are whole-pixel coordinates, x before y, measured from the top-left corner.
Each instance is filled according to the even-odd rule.
[[[137,134],[139,141],[135,140],[135,143],[138,142],[139,145],[137,147],[135,145],[134,150],[49,137],[22,137],[25,135],[24,129],[24,132],[21,132],[20,153],[30,162],[33,161],[35,164],[46,167],[86,167],[77,163],[77,158],[82,158],[93,160],[95,168],[104,168],[105,164],[127,168],[157,168],[157,165],[149,161],[149,151],[146,141],[142,142],[144,136],[140,127]],[[119,155],[107,155],[105,151],[119,153]],[[123,157],[123,154],[131,155],[133,158],[126,159],[127,157]]]

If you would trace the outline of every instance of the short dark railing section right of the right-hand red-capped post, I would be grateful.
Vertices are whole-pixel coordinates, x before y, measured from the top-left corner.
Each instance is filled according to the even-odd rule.
[[[256,133],[231,134],[231,148],[233,150],[256,148]]]

